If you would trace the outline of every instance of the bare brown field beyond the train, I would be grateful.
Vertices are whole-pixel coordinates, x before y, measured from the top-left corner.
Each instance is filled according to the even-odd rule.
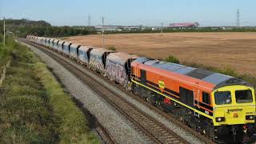
[[[82,45],[102,47],[102,35],[65,38]],[[256,33],[106,34],[105,47],[150,58],[174,55],[184,62],[233,68],[256,74]]]

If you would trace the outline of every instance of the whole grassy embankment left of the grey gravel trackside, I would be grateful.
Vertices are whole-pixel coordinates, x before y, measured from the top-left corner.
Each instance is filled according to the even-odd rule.
[[[26,46],[6,47],[1,54],[12,63],[0,93],[0,143],[98,143],[46,65]]]

